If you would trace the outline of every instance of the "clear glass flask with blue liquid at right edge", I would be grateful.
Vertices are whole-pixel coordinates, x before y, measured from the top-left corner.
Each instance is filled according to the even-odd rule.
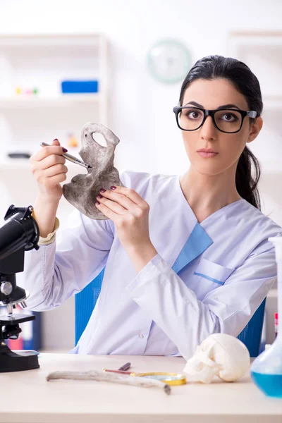
[[[275,245],[277,264],[278,316],[282,316],[282,236],[269,238]],[[252,381],[266,395],[282,398],[282,331],[270,348],[260,354],[250,368]]]

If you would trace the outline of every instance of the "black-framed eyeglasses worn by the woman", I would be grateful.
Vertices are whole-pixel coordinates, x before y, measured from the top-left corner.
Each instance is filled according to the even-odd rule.
[[[211,116],[216,129],[228,134],[238,133],[246,116],[249,118],[257,116],[254,110],[207,110],[193,106],[176,106],[173,107],[173,112],[176,114],[176,123],[181,130],[197,130],[204,125],[207,116]]]

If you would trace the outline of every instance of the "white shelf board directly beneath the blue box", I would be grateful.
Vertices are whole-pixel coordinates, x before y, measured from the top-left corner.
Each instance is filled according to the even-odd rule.
[[[61,94],[58,97],[0,97],[0,109],[21,109],[35,107],[65,107],[75,106],[81,103],[97,103],[100,98],[99,92],[93,94]]]

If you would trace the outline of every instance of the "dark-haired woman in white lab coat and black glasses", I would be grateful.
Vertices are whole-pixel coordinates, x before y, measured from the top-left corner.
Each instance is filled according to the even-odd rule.
[[[188,171],[121,173],[126,188],[101,187],[97,198],[109,220],[74,210],[57,240],[63,149],[55,140],[30,159],[42,238],[25,256],[27,306],[58,307],[106,266],[97,305],[71,353],[188,359],[211,333],[238,336],[276,279],[268,238],[281,228],[259,210],[259,165],[247,149],[262,128],[257,78],[240,61],[205,57],[188,73],[173,110]]]

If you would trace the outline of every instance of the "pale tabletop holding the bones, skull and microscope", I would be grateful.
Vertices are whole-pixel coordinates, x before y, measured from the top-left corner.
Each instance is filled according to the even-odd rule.
[[[56,370],[183,371],[180,357],[40,354],[40,368],[0,374],[0,422],[5,423],[282,423],[282,400],[267,398],[247,374],[240,382],[158,388],[97,381],[46,380]]]

